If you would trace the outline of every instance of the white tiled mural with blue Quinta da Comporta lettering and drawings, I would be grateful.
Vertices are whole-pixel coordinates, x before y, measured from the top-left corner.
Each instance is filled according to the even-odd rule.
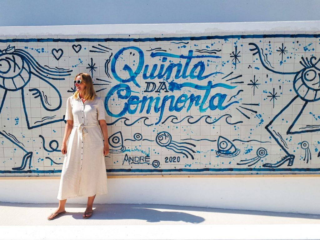
[[[109,174],[320,173],[319,35],[0,44],[0,176],[60,175],[78,72],[104,99]]]

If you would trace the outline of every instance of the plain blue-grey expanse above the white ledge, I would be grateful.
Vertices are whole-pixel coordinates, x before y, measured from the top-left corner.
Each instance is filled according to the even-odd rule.
[[[0,26],[320,20],[320,0],[0,0]]]

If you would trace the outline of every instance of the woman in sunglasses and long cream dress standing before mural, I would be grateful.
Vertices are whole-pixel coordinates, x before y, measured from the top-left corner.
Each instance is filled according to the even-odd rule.
[[[109,152],[109,145],[104,103],[97,97],[89,74],[79,73],[74,83],[76,92],[67,100],[67,124],[61,147],[62,154],[66,156],[57,197],[59,206],[48,220],[65,213],[67,198],[77,196],[88,197],[82,217],[90,218],[95,196],[107,193],[104,156]]]

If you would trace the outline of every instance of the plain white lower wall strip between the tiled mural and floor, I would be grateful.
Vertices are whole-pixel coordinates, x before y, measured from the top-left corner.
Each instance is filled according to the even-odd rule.
[[[112,178],[95,203],[171,204],[320,214],[319,177]],[[59,180],[0,180],[0,201],[58,203]],[[86,203],[85,197],[68,203]]]

